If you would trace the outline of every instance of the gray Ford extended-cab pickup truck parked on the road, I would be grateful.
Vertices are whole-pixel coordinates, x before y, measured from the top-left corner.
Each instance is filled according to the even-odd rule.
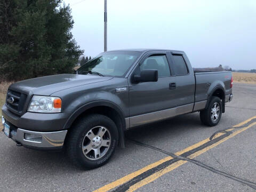
[[[124,131],[200,111],[217,125],[231,101],[229,71],[195,72],[183,51],[117,50],[76,71],[10,85],[2,108],[4,133],[17,145],[65,148],[85,169],[105,164]]]

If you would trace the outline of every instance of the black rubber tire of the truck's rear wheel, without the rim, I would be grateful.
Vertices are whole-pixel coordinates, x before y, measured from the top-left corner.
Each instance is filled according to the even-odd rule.
[[[212,119],[212,108],[214,106],[214,103],[218,103],[220,110],[219,115],[217,119]],[[204,110],[200,111],[200,119],[201,122],[207,126],[215,126],[220,122],[220,118],[222,115],[222,102],[221,99],[218,97],[213,96],[210,100],[209,105]]]

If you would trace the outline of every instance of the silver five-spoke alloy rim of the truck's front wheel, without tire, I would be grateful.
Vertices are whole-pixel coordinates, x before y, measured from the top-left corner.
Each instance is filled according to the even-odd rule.
[[[83,139],[82,150],[84,156],[91,160],[103,157],[111,143],[111,135],[104,126],[95,126],[90,129]]]

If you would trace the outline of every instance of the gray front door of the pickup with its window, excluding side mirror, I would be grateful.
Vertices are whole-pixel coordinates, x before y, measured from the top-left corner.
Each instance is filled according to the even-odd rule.
[[[175,107],[175,76],[166,52],[151,52],[139,61],[132,75],[144,69],[157,69],[157,82],[132,83],[129,79],[130,127],[169,117]]]

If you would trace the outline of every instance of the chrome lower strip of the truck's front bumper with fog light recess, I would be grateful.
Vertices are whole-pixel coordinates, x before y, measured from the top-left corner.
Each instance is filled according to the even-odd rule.
[[[9,137],[22,146],[35,149],[59,149],[62,148],[67,130],[54,132],[29,131],[15,127],[9,122]],[[3,124],[4,125],[4,124]]]

